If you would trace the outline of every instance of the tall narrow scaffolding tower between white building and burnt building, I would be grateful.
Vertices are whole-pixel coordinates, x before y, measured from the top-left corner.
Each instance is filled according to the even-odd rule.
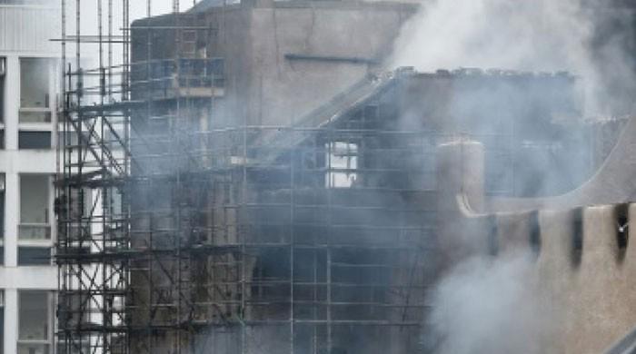
[[[127,0],[121,3],[128,7]],[[125,353],[130,280],[125,254],[131,248],[130,211],[122,198],[130,175],[132,103],[129,32],[118,29],[127,26],[128,16],[126,11],[114,16],[114,1],[96,1],[91,6],[97,34],[93,29],[84,34],[80,2],[62,0],[61,6],[65,80],[55,198],[56,350]],[[84,47],[91,47],[90,62]]]

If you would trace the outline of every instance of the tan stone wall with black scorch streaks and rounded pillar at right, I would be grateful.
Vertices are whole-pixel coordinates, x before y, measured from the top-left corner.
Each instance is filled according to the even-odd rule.
[[[545,317],[537,352],[600,353],[610,348],[636,325],[636,279],[631,276],[636,244],[629,238],[636,204],[479,213],[467,196],[480,203],[475,192],[481,187],[474,182],[481,172],[475,166],[466,170],[466,161],[481,161],[481,153],[475,143],[440,148],[440,163],[454,161],[463,176],[439,179],[445,184],[441,199],[446,200],[439,221],[446,260],[441,277],[472,257],[497,262],[530,254],[532,267],[522,281]]]

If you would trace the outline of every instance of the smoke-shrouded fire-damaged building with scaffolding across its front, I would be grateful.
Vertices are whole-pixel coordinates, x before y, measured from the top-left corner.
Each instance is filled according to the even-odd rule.
[[[566,72],[386,70],[416,10],[204,1],[127,28],[99,103],[69,69],[58,349],[434,352],[441,272],[499,254],[492,215],[587,181],[620,129]]]

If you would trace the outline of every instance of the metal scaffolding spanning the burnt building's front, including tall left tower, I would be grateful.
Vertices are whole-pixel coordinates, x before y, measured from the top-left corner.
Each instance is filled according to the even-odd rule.
[[[136,25],[129,0],[91,4],[62,1],[58,351],[417,348],[448,137],[394,124],[395,78],[293,124],[214,126],[224,59],[188,49],[214,28],[176,0]]]

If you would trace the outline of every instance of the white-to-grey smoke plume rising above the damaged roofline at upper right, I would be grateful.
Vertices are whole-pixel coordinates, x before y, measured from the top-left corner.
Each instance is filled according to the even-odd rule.
[[[620,37],[592,48],[607,14],[582,0],[433,1],[402,27],[391,63],[428,72],[458,67],[568,71],[581,78],[586,113],[604,114],[615,91],[631,87],[634,79]],[[624,18],[627,14],[622,12]],[[612,72],[620,74],[608,82],[600,64],[611,64]]]

